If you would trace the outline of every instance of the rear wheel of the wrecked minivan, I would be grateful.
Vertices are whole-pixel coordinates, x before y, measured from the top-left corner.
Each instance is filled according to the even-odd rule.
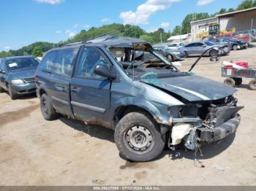
[[[45,120],[56,120],[58,118],[58,114],[53,108],[50,98],[45,93],[40,98],[40,109]]]

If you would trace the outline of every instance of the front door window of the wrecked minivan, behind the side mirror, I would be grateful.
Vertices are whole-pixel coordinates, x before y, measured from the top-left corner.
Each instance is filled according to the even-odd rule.
[[[105,79],[105,77],[94,74],[94,66],[97,64],[108,66],[108,61],[105,59],[105,56],[102,55],[102,52],[96,47],[83,47],[75,69],[75,77]]]

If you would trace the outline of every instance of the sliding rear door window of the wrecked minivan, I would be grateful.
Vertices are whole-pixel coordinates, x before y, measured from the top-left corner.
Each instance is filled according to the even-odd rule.
[[[78,48],[59,50],[52,65],[53,74],[71,77]]]

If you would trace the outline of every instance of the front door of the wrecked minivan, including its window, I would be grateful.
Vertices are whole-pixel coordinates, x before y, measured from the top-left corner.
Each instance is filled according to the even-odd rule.
[[[97,64],[110,67],[108,58],[97,47],[82,47],[70,85],[71,104],[79,120],[108,127],[111,82],[94,74]]]

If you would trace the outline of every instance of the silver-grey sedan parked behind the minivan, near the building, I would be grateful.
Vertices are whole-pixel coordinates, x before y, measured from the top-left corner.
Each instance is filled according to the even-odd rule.
[[[178,50],[184,51],[187,57],[189,56],[200,56],[208,50],[204,55],[227,55],[229,53],[229,49],[226,50],[226,46],[220,46],[218,44],[214,44],[212,42],[193,42],[187,44],[184,47],[180,47]],[[214,49],[211,49],[214,48]],[[209,50],[211,49],[211,50]]]

